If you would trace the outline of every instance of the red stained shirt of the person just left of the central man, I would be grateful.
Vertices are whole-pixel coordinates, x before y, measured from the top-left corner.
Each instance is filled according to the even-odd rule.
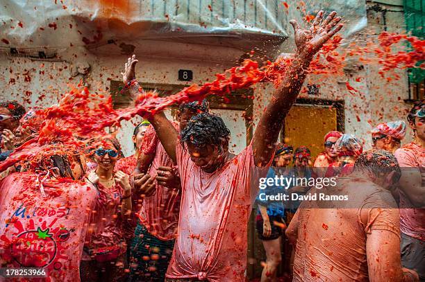
[[[178,130],[178,124],[173,123],[173,125]],[[146,155],[154,154],[148,171],[152,177],[156,176],[160,166],[175,167],[172,159],[168,157],[167,152],[165,152],[163,145],[160,143],[152,125],[147,128],[140,149]],[[139,213],[140,221],[151,235],[160,240],[176,238],[181,200],[180,190],[180,187],[168,188],[156,184],[156,193],[151,195],[151,197],[144,197]]]

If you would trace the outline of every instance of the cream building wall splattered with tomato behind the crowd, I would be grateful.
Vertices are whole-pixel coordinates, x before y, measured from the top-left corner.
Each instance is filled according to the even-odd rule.
[[[391,6],[378,3],[387,8],[385,26],[388,31],[403,30],[402,6],[394,1]],[[375,2],[368,1],[368,30],[364,35],[376,36],[384,29],[382,12],[376,12],[371,7]],[[395,5],[395,6],[394,6]],[[393,10],[395,12],[393,12]],[[292,27],[285,26],[288,34],[292,35]],[[370,34],[370,35],[369,35]],[[135,46],[135,53],[140,60],[137,73],[140,82],[167,83],[185,85],[178,80],[178,69],[191,69],[194,72],[195,83],[213,80],[214,74],[238,64],[244,53],[230,47],[208,46],[201,44],[183,44],[145,40],[143,42],[125,42]],[[201,40],[200,40],[201,43]],[[294,50],[292,36],[282,45],[282,52]],[[58,54],[63,61],[43,62],[28,58],[0,57],[0,85],[2,86],[1,100],[18,100],[27,106],[47,106],[57,103],[61,94],[76,84],[81,76],[72,77],[71,72],[79,64],[90,64],[88,76],[90,91],[108,93],[110,80],[121,80],[119,74],[124,68],[128,55],[122,54],[117,45],[100,46],[97,49],[67,49]],[[365,139],[367,148],[370,146],[369,131],[373,125],[382,121],[404,118],[409,105],[403,102],[407,98],[406,71],[398,71],[401,78],[387,82],[378,76],[378,66],[363,66],[360,71],[347,73],[343,77],[309,76],[306,83],[319,85],[319,96],[301,97],[320,98],[328,100],[344,100],[344,123],[346,132]],[[362,78],[356,82],[356,78]],[[346,82],[356,87],[359,92],[350,94]],[[254,87],[254,126],[258,123],[265,105],[274,89],[272,85],[260,84]],[[127,124],[119,134],[126,155],[131,153],[132,143],[129,140],[131,124]],[[234,132],[233,132],[234,133]],[[238,134],[233,134],[236,136]],[[408,134],[408,139],[410,134]]]

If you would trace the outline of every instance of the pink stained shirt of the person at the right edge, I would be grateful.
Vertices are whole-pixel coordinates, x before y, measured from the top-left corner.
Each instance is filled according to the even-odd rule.
[[[422,187],[425,179],[425,149],[417,143],[408,143],[394,153],[401,168],[419,168],[422,174]],[[412,203],[400,191],[400,230],[406,235],[425,240],[425,209],[403,209]]]

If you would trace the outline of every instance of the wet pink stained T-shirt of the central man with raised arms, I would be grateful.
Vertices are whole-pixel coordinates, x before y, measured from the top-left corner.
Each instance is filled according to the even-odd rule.
[[[178,237],[166,277],[208,281],[244,281],[247,224],[260,177],[252,145],[214,173],[206,173],[176,145],[182,198]]]

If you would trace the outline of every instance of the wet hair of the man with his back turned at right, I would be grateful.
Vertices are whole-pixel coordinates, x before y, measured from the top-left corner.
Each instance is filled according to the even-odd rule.
[[[393,183],[399,181],[401,170],[399,162],[392,153],[386,150],[368,150],[363,152],[354,163],[356,170],[372,173],[375,177],[382,177],[382,173],[387,175],[395,171]]]

